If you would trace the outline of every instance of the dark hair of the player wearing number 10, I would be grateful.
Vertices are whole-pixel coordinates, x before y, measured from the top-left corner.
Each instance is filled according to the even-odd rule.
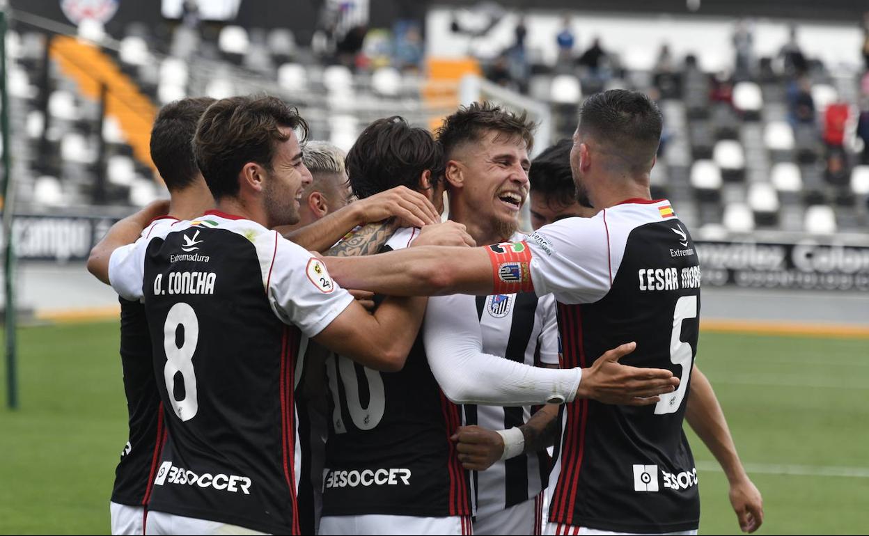
[[[402,185],[418,190],[420,176],[427,169],[434,186],[444,167],[443,149],[431,133],[411,127],[401,116],[369,124],[344,162],[353,193],[360,199]]]

